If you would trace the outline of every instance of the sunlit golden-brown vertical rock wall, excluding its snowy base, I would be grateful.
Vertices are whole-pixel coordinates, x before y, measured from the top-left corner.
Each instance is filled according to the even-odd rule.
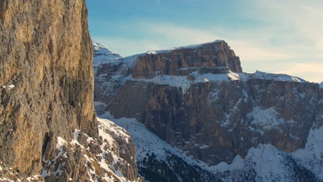
[[[23,174],[41,170],[50,132],[98,135],[87,13],[84,0],[0,1],[0,159]]]

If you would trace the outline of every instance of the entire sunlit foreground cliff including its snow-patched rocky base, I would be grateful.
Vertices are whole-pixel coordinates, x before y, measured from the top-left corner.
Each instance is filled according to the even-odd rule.
[[[131,139],[97,124],[85,1],[1,0],[0,37],[1,180],[137,181]]]

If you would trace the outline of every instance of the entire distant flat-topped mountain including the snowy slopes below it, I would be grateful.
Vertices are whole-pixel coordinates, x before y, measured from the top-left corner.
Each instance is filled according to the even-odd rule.
[[[319,84],[242,72],[224,41],[101,59],[95,108],[149,181],[323,180]]]

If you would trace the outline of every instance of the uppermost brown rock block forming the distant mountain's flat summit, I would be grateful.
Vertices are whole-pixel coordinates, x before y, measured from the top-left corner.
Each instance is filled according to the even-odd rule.
[[[158,75],[182,76],[190,72],[242,72],[239,57],[225,41],[145,54],[137,59],[134,79],[150,79]]]

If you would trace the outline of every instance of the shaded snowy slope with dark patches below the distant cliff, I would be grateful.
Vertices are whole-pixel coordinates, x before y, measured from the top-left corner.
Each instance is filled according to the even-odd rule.
[[[183,168],[182,171],[188,171],[189,168],[184,166],[193,166],[202,174],[201,178],[204,177],[202,181],[317,181],[317,177],[323,180],[323,148],[320,147],[323,146],[323,127],[311,130],[306,149],[297,150],[293,154],[286,154],[271,144],[260,144],[257,148],[251,148],[245,159],[237,155],[231,164],[222,162],[208,166],[192,156],[186,156],[182,150],[171,147],[136,119],[115,119],[108,112],[99,117],[128,130],[135,142],[139,168],[145,168],[147,157],[153,156],[155,161],[159,161],[155,163],[166,163],[171,169]],[[181,165],[174,165],[179,161]],[[177,181],[185,181],[181,172],[177,171]]]

